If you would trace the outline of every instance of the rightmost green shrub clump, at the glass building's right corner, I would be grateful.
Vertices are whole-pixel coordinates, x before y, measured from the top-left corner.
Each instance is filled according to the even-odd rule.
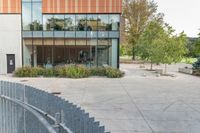
[[[119,69],[109,67],[106,68],[106,76],[108,78],[121,78],[124,76],[124,73]]]

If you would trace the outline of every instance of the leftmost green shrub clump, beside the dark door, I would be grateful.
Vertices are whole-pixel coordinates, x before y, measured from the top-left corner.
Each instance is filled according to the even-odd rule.
[[[40,67],[30,67],[30,66],[25,66],[22,68],[18,68],[14,75],[17,77],[38,77],[43,75],[43,68]]]

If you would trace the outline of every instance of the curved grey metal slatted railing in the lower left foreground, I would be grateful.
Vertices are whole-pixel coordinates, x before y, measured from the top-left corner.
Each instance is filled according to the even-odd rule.
[[[0,81],[0,133],[105,133],[105,128],[62,98]]]

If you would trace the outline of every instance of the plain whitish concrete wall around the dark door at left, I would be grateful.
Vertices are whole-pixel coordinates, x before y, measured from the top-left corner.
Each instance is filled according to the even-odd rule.
[[[15,54],[15,68],[22,66],[21,16],[0,14],[0,74],[7,73],[7,54]]]

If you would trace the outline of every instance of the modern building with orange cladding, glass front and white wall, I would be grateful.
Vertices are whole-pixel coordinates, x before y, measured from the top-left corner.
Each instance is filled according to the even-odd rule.
[[[0,0],[0,74],[21,66],[119,67],[122,0]]]

